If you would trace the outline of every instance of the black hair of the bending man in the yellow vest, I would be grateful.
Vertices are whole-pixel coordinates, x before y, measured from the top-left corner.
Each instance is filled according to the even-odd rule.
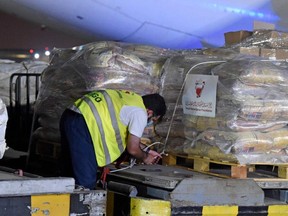
[[[142,96],[142,99],[145,107],[152,110],[154,116],[160,116],[161,120],[167,109],[164,98],[159,94],[148,94]]]

